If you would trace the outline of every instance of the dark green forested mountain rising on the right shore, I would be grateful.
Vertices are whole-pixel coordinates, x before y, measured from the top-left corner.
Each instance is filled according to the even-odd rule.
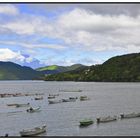
[[[45,80],[140,82],[140,53],[112,57],[101,65],[79,71],[48,75]]]

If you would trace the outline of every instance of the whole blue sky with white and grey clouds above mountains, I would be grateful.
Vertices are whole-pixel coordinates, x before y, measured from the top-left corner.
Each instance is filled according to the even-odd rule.
[[[102,64],[140,52],[140,4],[0,4],[0,61]]]

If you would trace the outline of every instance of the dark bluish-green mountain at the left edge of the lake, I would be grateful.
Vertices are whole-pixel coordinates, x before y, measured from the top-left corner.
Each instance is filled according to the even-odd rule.
[[[41,72],[37,72],[30,67],[0,61],[0,80],[32,80],[39,79],[42,76]]]

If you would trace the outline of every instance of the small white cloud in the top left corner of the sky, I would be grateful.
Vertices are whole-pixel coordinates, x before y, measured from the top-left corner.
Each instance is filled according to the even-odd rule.
[[[0,14],[6,15],[17,15],[19,14],[18,9],[10,4],[0,5]]]

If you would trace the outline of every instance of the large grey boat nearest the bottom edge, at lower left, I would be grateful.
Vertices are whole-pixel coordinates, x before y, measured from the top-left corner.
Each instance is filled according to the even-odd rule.
[[[33,129],[22,130],[19,133],[22,137],[28,137],[28,136],[36,136],[44,132],[46,132],[46,125],[43,125],[41,127],[35,127]]]

